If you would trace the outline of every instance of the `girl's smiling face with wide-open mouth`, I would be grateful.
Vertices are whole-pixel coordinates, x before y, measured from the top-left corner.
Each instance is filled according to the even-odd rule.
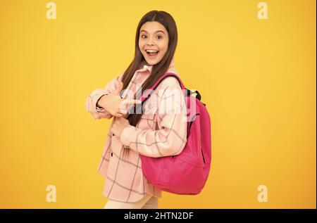
[[[149,65],[159,63],[168,50],[168,32],[156,21],[144,23],[139,30],[139,50]]]

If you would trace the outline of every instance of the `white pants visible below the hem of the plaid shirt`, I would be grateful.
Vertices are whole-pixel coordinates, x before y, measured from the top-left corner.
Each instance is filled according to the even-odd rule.
[[[159,198],[147,194],[137,202],[108,200],[104,209],[158,209]]]

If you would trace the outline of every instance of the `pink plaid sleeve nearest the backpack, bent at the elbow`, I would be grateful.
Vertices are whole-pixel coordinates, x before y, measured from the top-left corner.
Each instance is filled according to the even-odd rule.
[[[154,158],[178,155],[187,142],[187,106],[180,84],[175,77],[166,77],[160,85],[163,94],[159,93],[158,129],[128,125],[120,135],[125,148]]]

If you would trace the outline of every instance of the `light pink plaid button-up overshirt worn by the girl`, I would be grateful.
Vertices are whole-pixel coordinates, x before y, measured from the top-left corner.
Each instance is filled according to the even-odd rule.
[[[144,62],[142,66],[135,71],[130,84],[122,94],[123,98],[132,98],[136,90],[141,90],[137,89],[137,84],[142,84],[151,74],[152,66],[144,65]],[[170,63],[167,72],[178,75],[173,66],[174,60]],[[108,119],[112,117],[104,108],[97,107],[97,101],[104,94],[114,91],[122,77],[123,74],[119,75],[106,84],[105,89],[96,89],[87,97],[86,110],[95,120],[101,118],[101,112],[106,113]],[[128,89],[133,94],[128,94]],[[187,141],[185,98],[182,94],[175,96],[175,90],[182,92],[178,80],[175,77],[166,77],[144,103],[144,107],[148,108],[145,109],[137,127],[132,125],[125,127],[120,139],[113,136],[109,130],[98,168],[98,171],[106,177],[103,195],[108,199],[137,202],[147,193],[161,197],[161,190],[144,177],[139,154],[150,157],[178,155],[185,147]],[[168,107],[166,103],[172,106]],[[111,127],[112,125],[113,120]],[[123,156],[124,149],[130,149],[128,156]]]

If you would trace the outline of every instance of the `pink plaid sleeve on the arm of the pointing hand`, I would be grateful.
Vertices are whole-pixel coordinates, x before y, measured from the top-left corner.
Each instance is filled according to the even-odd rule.
[[[92,93],[89,94],[89,96],[87,97],[85,103],[86,110],[92,114],[92,117],[94,117],[95,120],[100,119],[101,117],[106,117],[107,119],[113,117],[113,115],[108,113],[106,109],[98,107],[97,103],[101,96],[104,96],[105,94],[111,94],[111,92],[113,92],[118,87],[118,84],[122,80],[122,77],[123,73],[120,74],[118,77],[113,78],[111,82],[108,82],[104,89],[96,89],[92,91]]]

